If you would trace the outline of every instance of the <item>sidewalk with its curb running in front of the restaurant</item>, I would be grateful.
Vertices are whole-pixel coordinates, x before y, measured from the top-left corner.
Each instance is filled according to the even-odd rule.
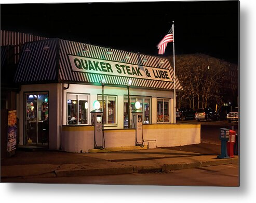
[[[14,177],[117,175],[238,163],[238,156],[218,159],[220,149],[217,144],[200,143],[104,153],[17,150],[16,155],[1,160],[1,182]]]

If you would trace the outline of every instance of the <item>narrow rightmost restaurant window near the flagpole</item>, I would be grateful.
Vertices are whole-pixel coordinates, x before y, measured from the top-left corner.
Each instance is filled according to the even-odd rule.
[[[170,122],[170,99],[157,99],[157,123]]]

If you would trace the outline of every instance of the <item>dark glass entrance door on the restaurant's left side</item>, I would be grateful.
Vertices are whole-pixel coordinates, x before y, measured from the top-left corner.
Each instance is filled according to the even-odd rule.
[[[48,93],[25,93],[25,104],[24,143],[48,146]]]

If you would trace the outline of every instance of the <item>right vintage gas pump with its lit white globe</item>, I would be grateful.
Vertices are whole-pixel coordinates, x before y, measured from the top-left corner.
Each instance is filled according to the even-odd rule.
[[[136,101],[135,103],[136,110],[131,112],[132,118],[132,128],[136,129],[136,145],[140,147],[144,147],[144,139],[143,139],[143,112],[140,109],[140,102]]]

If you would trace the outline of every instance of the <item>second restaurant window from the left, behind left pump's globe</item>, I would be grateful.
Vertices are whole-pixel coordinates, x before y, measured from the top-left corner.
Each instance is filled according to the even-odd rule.
[[[100,110],[102,111],[102,95],[98,95],[98,101],[100,102]],[[117,96],[104,95],[104,112],[103,112],[104,124],[109,124],[109,125],[117,124],[116,101],[117,101]]]

